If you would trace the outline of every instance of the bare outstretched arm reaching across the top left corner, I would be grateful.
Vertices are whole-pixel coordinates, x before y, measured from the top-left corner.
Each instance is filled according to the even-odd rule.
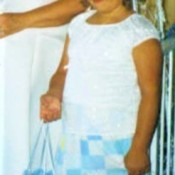
[[[0,38],[26,28],[66,24],[85,8],[82,0],[59,0],[27,12],[1,14]]]

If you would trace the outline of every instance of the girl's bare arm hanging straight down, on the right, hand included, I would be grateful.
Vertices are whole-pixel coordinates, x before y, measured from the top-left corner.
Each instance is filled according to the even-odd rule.
[[[148,150],[158,120],[162,52],[160,43],[150,39],[133,50],[138,84],[141,91],[141,102],[135,135],[125,164],[129,174],[144,173],[150,169]]]

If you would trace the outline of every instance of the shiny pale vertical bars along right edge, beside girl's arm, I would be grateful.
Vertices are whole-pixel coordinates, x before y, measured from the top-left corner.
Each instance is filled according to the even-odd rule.
[[[175,175],[175,55],[171,50],[164,56],[162,104],[157,133],[156,175]],[[154,148],[153,148],[154,150]]]

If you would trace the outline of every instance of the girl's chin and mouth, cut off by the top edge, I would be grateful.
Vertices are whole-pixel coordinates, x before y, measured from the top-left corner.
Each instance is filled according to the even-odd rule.
[[[89,3],[99,12],[112,12],[122,5],[122,0],[89,0]]]

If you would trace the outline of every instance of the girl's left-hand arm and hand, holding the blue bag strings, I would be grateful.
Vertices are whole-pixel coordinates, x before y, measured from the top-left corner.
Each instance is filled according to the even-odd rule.
[[[67,74],[68,55],[67,48],[69,38],[66,38],[63,56],[56,72],[51,78],[49,89],[46,94],[41,97],[40,116],[45,122],[51,122],[60,118],[61,101],[65,78]]]

